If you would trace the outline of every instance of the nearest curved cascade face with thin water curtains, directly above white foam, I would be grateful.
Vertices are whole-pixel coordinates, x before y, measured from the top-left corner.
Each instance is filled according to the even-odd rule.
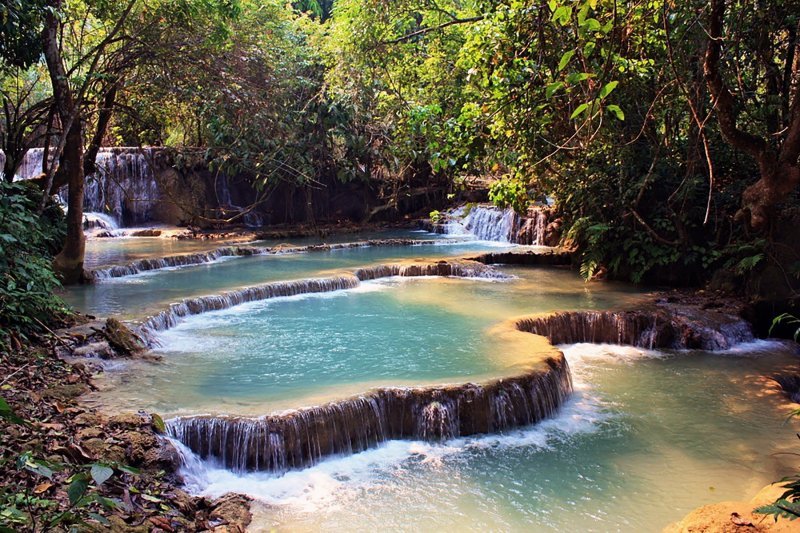
[[[572,391],[566,359],[483,384],[383,388],[355,398],[263,418],[186,417],[169,435],[234,471],[285,472],[393,439],[446,440],[535,424]]]

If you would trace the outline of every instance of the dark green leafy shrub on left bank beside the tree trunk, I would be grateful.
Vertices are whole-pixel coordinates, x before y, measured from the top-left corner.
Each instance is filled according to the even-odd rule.
[[[64,215],[51,204],[37,213],[33,184],[0,184],[0,351],[66,312],[51,259],[64,236]]]

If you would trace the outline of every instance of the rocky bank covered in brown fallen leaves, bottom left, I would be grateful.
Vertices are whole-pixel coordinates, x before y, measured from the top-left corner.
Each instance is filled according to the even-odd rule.
[[[138,356],[120,349],[119,331],[96,323],[70,331],[82,344],[110,344],[104,357]],[[65,345],[52,336],[0,359],[0,396],[10,408],[0,412],[0,524],[16,531],[244,531],[246,497],[210,500],[179,488],[180,457],[161,437],[158,415],[105,416],[81,404],[97,368],[91,359],[57,357]]]

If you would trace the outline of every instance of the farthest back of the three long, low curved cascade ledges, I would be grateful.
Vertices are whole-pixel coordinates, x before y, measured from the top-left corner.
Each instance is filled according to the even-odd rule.
[[[331,250],[345,250],[353,248],[368,248],[373,246],[428,246],[436,244],[434,241],[414,240],[414,239],[374,239],[359,242],[344,242],[336,244],[312,244],[309,246],[224,246],[209,252],[198,252],[194,254],[171,255],[167,257],[156,257],[151,259],[141,259],[126,265],[115,265],[110,267],[98,268],[91,271],[94,281],[104,279],[121,278],[134,276],[142,272],[160,270],[164,268],[175,268],[191,265],[202,265],[219,260],[223,257],[247,257],[251,255],[278,255],[278,254],[301,254],[307,252],[329,252]]]

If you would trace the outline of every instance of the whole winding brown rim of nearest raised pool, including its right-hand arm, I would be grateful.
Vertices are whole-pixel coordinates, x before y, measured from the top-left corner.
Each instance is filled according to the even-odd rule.
[[[726,324],[743,322],[732,317]],[[746,325],[746,324],[745,324]],[[702,326],[702,325],[700,325]],[[688,333],[687,333],[688,332]],[[446,441],[529,426],[552,417],[572,392],[563,353],[554,342],[600,342],[641,348],[724,350],[752,339],[749,328],[698,327],[665,310],[587,311],[512,318],[494,335],[533,334],[531,368],[481,383],[382,387],[283,413],[248,418],[185,416],[168,422],[170,436],[205,460],[235,472],[284,473],[388,440]],[[726,339],[720,341],[720,336]],[[537,357],[538,355],[538,357]]]

